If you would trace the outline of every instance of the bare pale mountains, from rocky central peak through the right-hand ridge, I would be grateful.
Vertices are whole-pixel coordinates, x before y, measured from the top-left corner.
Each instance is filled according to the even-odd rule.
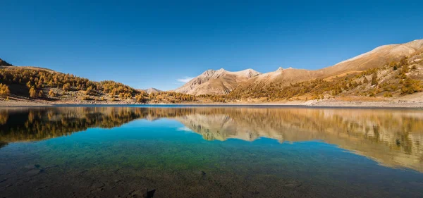
[[[276,71],[269,73],[259,73],[252,69],[238,72],[230,72],[223,68],[220,70],[206,70],[174,91],[195,95],[228,94],[235,88],[239,92],[243,92],[253,89],[257,85],[277,83],[280,86],[284,86],[307,80],[348,75],[348,73],[362,72],[371,68],[381,68],[391,61],[400,61],[404,56],[412,56],[422,52],[423,39],[417,39],[405,44],[388,44],[377,47],[367,53],[319,70],[278,68]]]

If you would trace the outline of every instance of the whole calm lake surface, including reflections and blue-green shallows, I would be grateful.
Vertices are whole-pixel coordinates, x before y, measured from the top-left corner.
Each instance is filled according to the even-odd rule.
[[[423,111],[0,109],[0,197],[423,197]]]

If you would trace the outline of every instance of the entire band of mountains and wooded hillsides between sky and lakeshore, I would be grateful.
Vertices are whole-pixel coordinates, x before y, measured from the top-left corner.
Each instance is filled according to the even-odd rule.
[[[319,70],[206,70],[168,92],[134,89],[110,80],[94,82],[46,68],[12,66],[1,59],[0,83],[0,101],[48,104],[388,101],[391,97],[423,104],[423,39],[377,47]]]

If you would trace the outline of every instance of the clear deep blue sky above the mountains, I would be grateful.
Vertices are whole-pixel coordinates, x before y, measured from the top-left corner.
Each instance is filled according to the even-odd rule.
[[[0,0],[0,58],[135,88],[207,69],[318,69],[423,39],[423,1]]]

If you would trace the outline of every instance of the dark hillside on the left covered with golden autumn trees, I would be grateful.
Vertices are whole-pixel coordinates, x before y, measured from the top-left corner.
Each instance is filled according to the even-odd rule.
[[[96,82],[44,68],[1,66],[0,99],[50,103],[122,104],[210,102],[213,98],[175,92],[147,94],[143,90],[111,80]]]

